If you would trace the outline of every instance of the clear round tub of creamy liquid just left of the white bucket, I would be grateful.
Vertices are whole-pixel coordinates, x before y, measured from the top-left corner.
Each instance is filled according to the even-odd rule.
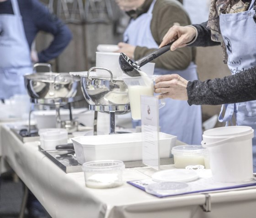
[[[180,145],[172,148],[171,153],[174,157],[176,168],[185,168],[189,165],[204,166],[204,147],[200,145]]]

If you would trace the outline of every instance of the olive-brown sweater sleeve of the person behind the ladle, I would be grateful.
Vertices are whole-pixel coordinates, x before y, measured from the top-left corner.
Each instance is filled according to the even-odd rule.
[[[165,0],[156,1],[150,29],[158,45],[160,45],[163,36],[169,28],[175,23],[179,23],[180,25],[190,24],[187,13],[182,9],[181,5]],[[155,50],[155,48],[136,46],[134,60],[138,60]],[[193,54],[192,48],[186,47],[175,52],[167,51],[152,62],[155,62],[155,67],[157,68],[184,70],[189,66],[190,62],[193,61],[194,56],[195,54]]]

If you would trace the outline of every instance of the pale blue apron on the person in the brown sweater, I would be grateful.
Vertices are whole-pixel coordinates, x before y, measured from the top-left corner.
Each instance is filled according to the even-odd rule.
[[[150,5],[147,13],[140,15],[136,20],[131,20],[124,32],[123,41],[133,46],[159,47],[150,30],[154,5],[155,0]],[[154,72],[156,75],[172,73],[179,74],[186,80],[198,79],[197,66],[193,62],[184,71],[169,71],[156,68]],[[188,144],[200,144],[202,141],[201,106],[189,106],[187,101],[178,101],[170,98],[165,99],[165,102],[165,106],[159,112],[161,132],[175,135],[178,140]]]

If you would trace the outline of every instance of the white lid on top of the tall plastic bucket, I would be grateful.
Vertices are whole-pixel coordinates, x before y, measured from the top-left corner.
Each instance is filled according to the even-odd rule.
[[[252,128],[247,126],[230,126],[208,129],[203,132],[204,137],[232,137],[251,133]]]

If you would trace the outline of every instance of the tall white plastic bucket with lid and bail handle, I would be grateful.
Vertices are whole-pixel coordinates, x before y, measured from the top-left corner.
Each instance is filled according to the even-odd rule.
[[[231,126],[203,132],[202,146],[208,149],[213,179],[218,182],[241,182],[251,179],[251,127]]]

